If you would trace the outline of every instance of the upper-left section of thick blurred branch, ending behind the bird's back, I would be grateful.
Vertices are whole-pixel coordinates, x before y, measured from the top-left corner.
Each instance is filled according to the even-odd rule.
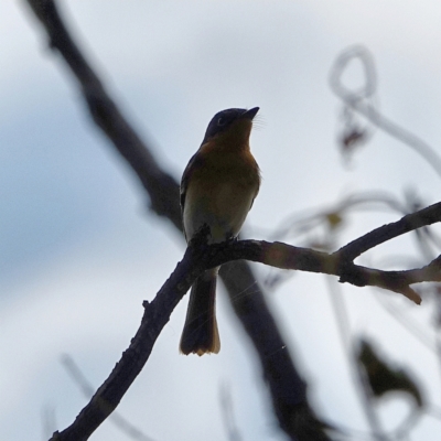
[[[55,2],[28,0],[28,3],[45,28],[51,47],[63,55],[78,80],[94,121],[129,163],[147,190],[151,208],[181,229],[178,182],[160,168],[146,143],[107,94],[103,83],[72,40]],[[173,203],[170,203],[171,200]]]

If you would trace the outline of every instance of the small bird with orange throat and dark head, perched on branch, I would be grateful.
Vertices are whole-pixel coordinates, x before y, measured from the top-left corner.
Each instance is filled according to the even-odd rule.
[[[249,148],[259,107],[230,108],[208,123],[181,181],[181,212],[187,244],[208,227],[207,244],[236,239],[260,187],[260,169]],[[207,229],[207,228],[206,228]],[[208,230],[208,229],[207,229]],[[216,279],[219,267],[193,283],[180,342],[182,354],[217,354]]]

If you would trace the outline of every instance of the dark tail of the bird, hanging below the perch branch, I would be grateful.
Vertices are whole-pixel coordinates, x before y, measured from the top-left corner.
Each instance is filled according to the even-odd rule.
[[[217,272],[218,268],[205,271],[192,287],[180,344],[185,355],[217,354],[220,349],[216,322]]]

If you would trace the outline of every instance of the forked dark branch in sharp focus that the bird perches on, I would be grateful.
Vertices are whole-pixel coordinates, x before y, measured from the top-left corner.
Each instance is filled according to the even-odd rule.
[[[407,215],[396,223],[377,228],[357,240],[354,240],[352,244],[358,244],[367,250],[374,248],[378,243],[387,240],[378,241],[377,235],[380,230],[384,233],[383,237],[396,237],[415,228],[440,220],[441,203],[438,203],[417,213]],[[410,226],[404,230],[402,224]],[[227,263],[232,260],[248,259],[277,268],[334,275],[338,276],[341,280],[343,279],[343,281],[358,287],[374,286],[389,289],[405,294],[417,303],[420,301],[420,298],[409,284],[441,280],[441,258],[433,260],[421,269],[381,271],[359,267],[352,261],[345,260],[344,254],[342,254],[341,250],[330,255],[308,248],[293,247],[282,243],[258,240],[226,241],[207,246],[204,239],[206,233],[206,230],[202,230],[198,236],[192,240],[190,247],[187,247],[185,251],[183,260],[178,263],[176,269],[163,284],[154,300],[151,303],[144,302],[144,315],[141,325],[131,341],[129,348],[122,354],[120,362],[116,365],[108,379],[99,387],[89,404],[78,415],[75,422],[63,432],[55,432],[52,441],[87,440],[98,426],[111,413],[147,363],[153,345],[163,326],[170,320],[174,308],[196,278],[206,269]],[[345,247],[342,249],[345,249]],[[247,298],[249,297],[247,295]],[[262,336],[265,341],[263,333],[265,330],[261,327],[256,331],[256,334]],[[280,346],[278,352],[284,354],[284,345]],[[267,362],[270,361],[270,358],[266,359]],[[272,375],[275,375],[275,370],[282,374],[279,372],[280,367],[276,363],[269,362],[265,367],[266,374],[272,373]],[[305,392],[304,385],[300,377],[297,380],[300,381],[298,388],[303,389],[303,392]],[[279,383],[279,386],[282,386],[282,381]],[[277,396],[279,395],[273,394],[273,397]],[[290,411],[293,417],[289,426],[284,428],[289,433],[295,434],[299,440],[326,439],[324,434],[322,434],[322,438],[313,438],[313,431],[318,430],[315,433],[316,437],[322,427],[310,412],[305,399],[291,404],[276,401],[275,398],[273,400],[277,411]],[[286,407],[289,409],[286,409]]]

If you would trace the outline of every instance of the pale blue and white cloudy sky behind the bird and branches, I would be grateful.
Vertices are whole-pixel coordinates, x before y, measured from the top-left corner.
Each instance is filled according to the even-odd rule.
[[[366,46],[381,111],[439,151],[439,1],[69,0],[62,12],[110,94],[176,180],[216,111],[260,107],[251,149],[263,182],[248,237],[270,238],[291,215],[355,192],[388,191],[404,201],[412,191],[424,204],[439,201],[441,181],[430,164],[387,135],[373,131],[349,164],[342,158],[335,141],[341,106],[329,86],[336,56]],[[152,299],[174,269],[184,241],[149,212],[24,1],[0,2],[0,438],[41,440],[71,424],[87,402],[63,354],[98,387],[133,336],[142,300]],[[355,66],[345,80],[362,84],[361,71]],[[336,246],[398,217],[354,213]],[[303,237],[290,240],[304,245]],[[423,265],[411,240],[397,240],[364,262],[397,259],[395,267],[402,268],[408,257]],[[273,275],[256,270],[259,281]],[[318,412],[365,430],[330,284],[335,288],[335,279],[295,275],[268,302]],[[351,331],[376,338],[390,359],[410,365],[441,407],[432,305],[337,288]],[[380,295],[418,324],[429,347],[384,310]],[[244,441],[284,440],[222,288],[218,355],[179,354],[185,310],[186,299],[123,398],[121,415],[157,441],[224,441],[227,391]],[[380,418],[392,429],[411,409],[411,401],[390,399]],[[411,439],[438,440],[440,431],[439,420],[423,417]],[[106,421],[93,439],[127,437]]]

